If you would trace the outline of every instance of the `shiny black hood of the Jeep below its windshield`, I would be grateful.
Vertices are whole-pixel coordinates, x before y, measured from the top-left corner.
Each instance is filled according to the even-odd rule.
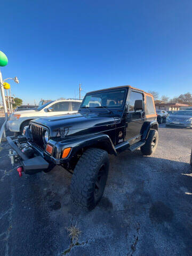
[[[73,115],[41,117],[32,122],[49,128],[50,136],[54,137],[55,132],[59,131],[61,128],[68,131],[67,135],[74,133],[81,135],[85,134],[85,132],[93,133],[99,132],[100,130],[108,130],[111,125],[115,124],[115,119],[108,113],[77,113]]]

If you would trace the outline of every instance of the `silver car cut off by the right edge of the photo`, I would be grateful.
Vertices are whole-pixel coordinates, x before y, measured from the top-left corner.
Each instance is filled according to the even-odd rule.
[[[166,119],[166,125],[192,128],[192,110],[179,110]]]

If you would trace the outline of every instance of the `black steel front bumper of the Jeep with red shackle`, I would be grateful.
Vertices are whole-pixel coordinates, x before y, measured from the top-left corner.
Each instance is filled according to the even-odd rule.
[[[14,150],[14,152],[16,154],[14,154],[15,157],[17,156],[17,158],[19,159],[19,164],[20,166],[22,166],[23,171],[26,174],[35,174],[37,172],[43,171],[43,170],[47,170],[50,167],[50,163],[47,162],[41,155],[38,154],[38,152],[35,152],[35,155],[33,158],[29,158],[26,154],[24,154],[21,149],[18,147],[17,143],[19,142],[25,142],[23,140],[23,137],[18,137],[18,139],[13,139],[14,137],[6,137],[7,142],[9,143],[9,145],[12,147],[12,149]],[[11,158],[11,156],[10,156]],[[12,164],[14,163],[14,161],[12,162]]]

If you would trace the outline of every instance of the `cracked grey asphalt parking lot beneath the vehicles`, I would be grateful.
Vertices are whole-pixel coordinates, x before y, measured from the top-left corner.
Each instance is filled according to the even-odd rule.
[[[110,156],[104,196],[86,212],[71,203],[70,173],[19,178],[3,142],[0,255],[192,255],[191,147],[192,130],[159,125],[154,155]],[[76,245],[70,226],[81,230]]]

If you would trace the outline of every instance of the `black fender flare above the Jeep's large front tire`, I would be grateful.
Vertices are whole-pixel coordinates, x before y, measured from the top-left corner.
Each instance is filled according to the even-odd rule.
[[[55,143],[54,147],[57,148],[58,153],[61,154],[64,148],[71,147],[71,153],[69,158],[73,157],[78,153],[82,148],[101,148],[106,150],[111,155],[117,155],[113,141],[105,133],[100,134],[87,134],[83,136],[74,137],[73,139],[62,140]]]

